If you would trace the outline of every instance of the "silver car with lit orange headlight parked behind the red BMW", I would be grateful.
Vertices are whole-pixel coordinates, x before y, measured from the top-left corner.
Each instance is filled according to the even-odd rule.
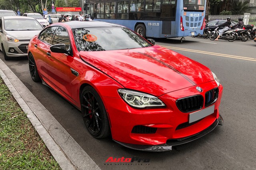
[[[0,18],[0,49],[4,59],[28,55],[30,39],[40,33],[42,25],[30,17],[4,16]]]

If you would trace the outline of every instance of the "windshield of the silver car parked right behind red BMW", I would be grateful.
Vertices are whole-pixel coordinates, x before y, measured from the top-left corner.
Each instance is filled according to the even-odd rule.
[[[7,19],[4,20],[6,31],[42,30],[42,25],[32,19]]]

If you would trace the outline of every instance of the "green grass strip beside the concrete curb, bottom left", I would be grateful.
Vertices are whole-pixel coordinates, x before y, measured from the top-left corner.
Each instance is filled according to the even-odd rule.
[[[1,77],[0,169],[61,169]]]

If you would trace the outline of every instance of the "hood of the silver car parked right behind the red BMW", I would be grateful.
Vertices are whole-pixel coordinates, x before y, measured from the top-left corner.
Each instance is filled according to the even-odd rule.
[[[29,30],[29,31],[6,31],[6,34],[18,39],[31,39],[38,33],[40,33],[41,30]]]

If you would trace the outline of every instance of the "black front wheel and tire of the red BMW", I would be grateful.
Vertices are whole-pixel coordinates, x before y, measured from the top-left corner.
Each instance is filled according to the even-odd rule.
[[[110,135],[108,115],[100,95],[92,86],[86,86],[80,96],[84,124],[90,134],[103,139]]]

